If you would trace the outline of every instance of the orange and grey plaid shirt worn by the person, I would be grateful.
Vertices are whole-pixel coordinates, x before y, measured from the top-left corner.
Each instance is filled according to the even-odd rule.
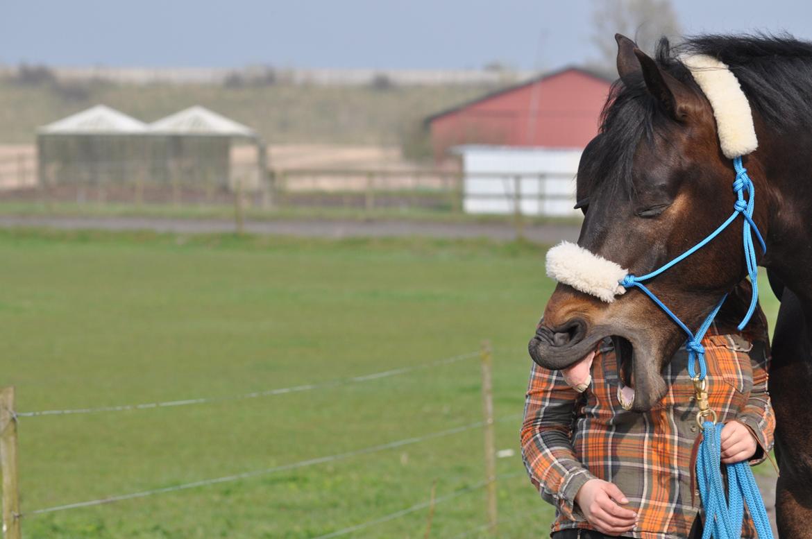
[[[712,328],[713,330],[713,328]],[[719,421],[739,420],[758,441],[752,464],[772,446],[775,429],[767,393],[767,344],[740,334],[706,335],[708,394]],[[533,365],[521,429],[522,457],[533,482],[556,507],[552,531],[591,528],[574,498],[598,478],[618,485],[639,515],[624,537],[688,537],[701,510],[692,489],[692,453],[698,438],[688,354],[680,348],[663,375],[669,390],[643,414],[620,407],[617,362],[611,341],[601,343],[592,384],[579,394],[559,371]],[[749,515],[741,537],[756,537]]]

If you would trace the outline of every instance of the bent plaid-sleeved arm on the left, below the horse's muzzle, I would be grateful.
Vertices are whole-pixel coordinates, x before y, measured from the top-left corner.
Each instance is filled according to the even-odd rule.
[[[568,520],[584,520],[575,497],[595,477],[572,448],[572,423],[580,394],[560,371],[533,364],[521,428],[521,455],[530,481]]]

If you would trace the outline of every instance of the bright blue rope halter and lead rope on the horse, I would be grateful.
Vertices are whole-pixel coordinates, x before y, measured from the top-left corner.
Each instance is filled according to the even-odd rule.
[[[749,308],[745,317],[742,318],[738,326],[739,330],[744,329],[750,318],[753,317],[756,305],[758,304],[758,261],[756,259],[753,234],[755,233],[758,244],[761,245],[762,252],[767,252],[767,245],[764,243],[758,226],[753,221],[753,209],[755,206],[755,189],[753,181],[747,175],[747,169],[741,164],[741,157],[733,159],[733,167],[736,169],[736,179],[733,181],[733,191],[736,192],[736,202],[733,204],[733,213],[715,231],[707,235],[698,244],[683,252],[679,257],[660,266],[657,270],[637,277],[633,274],[626,275],[620,280],[620,285],[624,288],[637,287],[644,294],[654,301],[654,304],[670,317],[680,329],[688,335],[685,348],[688,350],[688,373],[693,379],[695,386],[702,384],[704,389],[707,367],[705,363],[705,347],[702,346],[702,338],[708,328],[711,327],[719,309],[722,308],[724,300],[728,295],[722,296],[719,303],[711,310],[711,313],[699,326],[696,333],[692,332],[670,308],[663,304],[654,292],[650,291],[644,281],[657,277],[664,271],[672,268],[690,257],[694,252],[705,247],[716,236],[722,233],[728,226],[741,215],[744,218],[742,223],[742,242],[745,248],[745,262],[747,274],[753,288],[753,295],[750,298]],[[745,199],[745,191],[747,198]],[[699,372],[697,373],[697,366]],[[702,412],[700,412],[702,414]],[[699,447],[697,457],[697,478],[699,484],[699,494],[705,506],[706,522],[702,532],[702,539],[736,539],[741,537],[741,522],[744,517],[744,503],[747,503],[750,515],[753,517],[754,526],[758,532],[758,537],[762,539],[772,539],[772,529],[767,519],[767,511],[764,509],[764,502],[761,493],[758,491],[753,472],[745,462],[728,464],[728,497],[725,499],[725,490],[722,480],[722,472],[719,467],[721,461],[721,434],[723,425],[715,424],[714,420],[704,420],[702,422],[702,444]],[[698,415],[699,419],[700,415]],[[708,416],[705,416],[706,418]]]

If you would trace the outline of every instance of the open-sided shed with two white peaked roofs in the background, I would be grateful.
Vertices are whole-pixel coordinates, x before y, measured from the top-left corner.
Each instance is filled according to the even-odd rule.
[[[234,170],[231,144],[253,144],[256,166]],[[171,184],[257,189],[265,185],[261,137],[202,106],[149,125],[98,105],[37,130],[41,185]]]

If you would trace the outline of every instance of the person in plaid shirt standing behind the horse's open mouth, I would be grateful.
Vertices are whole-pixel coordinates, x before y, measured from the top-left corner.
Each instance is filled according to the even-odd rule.
[[[726,464],[759,464],[773,444],[770,349],[761,308],[744,331],[736,330],[748,299],[745,282],[702,340],[711,408],[724,423]],[[533,364],[522,458],[530,481],[555,506],[551,537],[702,537],[693,472],[700,429],[688,353],[680,348],[663,370],[667,395],[645,413],[628,411],[620,402],[618,356],[612,340],[604,339],[592,358],[591,380],[570,383],[566,373]],[[741,537],[756,537],[747,514]]]

